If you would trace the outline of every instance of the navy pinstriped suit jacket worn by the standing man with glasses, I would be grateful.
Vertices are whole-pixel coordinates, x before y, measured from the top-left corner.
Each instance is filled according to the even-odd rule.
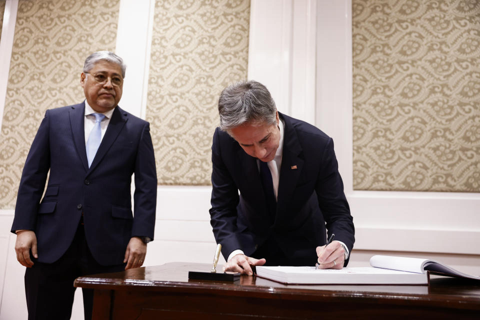
[[[148,122],[117,106],[88,168],[84,109],[83,102],[46,110],[23,167],[11,231],[35,232],[39,262],[62,256],[82,212],[88,247],[102,265],[122,263],[131,236],[153,238],[157,180]]]

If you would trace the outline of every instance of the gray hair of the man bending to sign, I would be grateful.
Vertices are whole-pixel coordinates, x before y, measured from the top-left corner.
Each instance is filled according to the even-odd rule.
[[[218,99],[220,129],[230,130],[244,123],[276,124],[275,101],[268,89],[254,80],[241,81],[224,88]]]

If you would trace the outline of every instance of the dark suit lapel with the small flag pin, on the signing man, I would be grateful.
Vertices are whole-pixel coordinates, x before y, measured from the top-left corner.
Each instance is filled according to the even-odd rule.
[[[278,183],[278,203],[276,205],[277,215],[282,214],[284,203],[289,203],[296,182],[303,168],[303,159],[299,157],[302,149],[298,136],[292,123],[287,116],[280,114],[283,118],[285,127],[283,135],[283,153],[281,158],[281,167]],[[276,219],[275,221],[278,221]]]

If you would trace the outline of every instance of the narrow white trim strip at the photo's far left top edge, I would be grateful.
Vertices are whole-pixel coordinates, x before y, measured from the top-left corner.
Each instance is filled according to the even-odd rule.
[[[18,0],[6,0],[0,40],[0,135],[3,110],[5,108],[8,74],[10,72],[11,49],[13,46],[13,35],[15,34],[17,10]]]

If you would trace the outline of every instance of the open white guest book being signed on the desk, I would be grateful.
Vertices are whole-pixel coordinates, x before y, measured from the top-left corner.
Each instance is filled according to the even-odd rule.
[[[256,275],[290,284],[428,284],[428,273],[480,280],[431,259],[374,255],[365,267],[256,266]]]

